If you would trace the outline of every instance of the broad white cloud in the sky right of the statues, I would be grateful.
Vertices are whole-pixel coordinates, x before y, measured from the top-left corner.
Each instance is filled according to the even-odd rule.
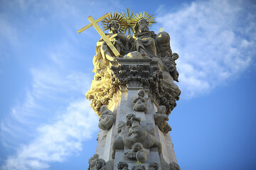
[[[161,6],[163,8],[163,6]],[[182,95],[208,93],[238,77],[255,55],[255,4],[250,1],[194,1],[156,17],[178,52]]]

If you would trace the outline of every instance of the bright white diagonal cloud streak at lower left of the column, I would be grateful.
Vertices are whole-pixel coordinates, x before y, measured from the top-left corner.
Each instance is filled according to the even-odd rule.
[[[9,157],[3,169],[46,169],[49,162],[62,162],[70,154],[82,150],[82,142],[90,139],[97,126],[97,115],[80,99],[70,103],[65,113],[53,123],[38,128],[39,134]]]

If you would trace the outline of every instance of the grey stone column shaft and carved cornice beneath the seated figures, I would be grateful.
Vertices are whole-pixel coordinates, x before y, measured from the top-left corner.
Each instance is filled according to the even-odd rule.
[[[114,123],[110,130],[100,130],[98,135],[98,143],[96,154],[100,159],[104,159],[105,162],[111,162],[112,168],[117,170],[117,164],[119,162],[126,162],[129,165],[129,169],[138,164],[144,165],[146,169],[150,163],[157,163],[159,169],[170,169],[169,164],[176,162],[176,155],[174,152],[174,145],[171,142],[169,132],[161,132],[158,125],[154,120],[154,114],[157,112],[157,108],[161,103],[161,97],[164,94],[159,92],[159,86],[161,88],[169,88],[168,84],[162,83],[163,77],[161,76],[161,69],[159,63],[151,59],[118,59],[117,62],[112,62],[112,78],[119,83],[119,95],[115,96],[114,100],[109,103],[108,108],[114,115]],[[159,84],[161,81],[162,84]],[[146,111],[134,111],[134,98],[137,98],[138,91],[143,89],[145,91],[144,99],[147,106]],[[174,89],[164,89],[166,93],[172,91],[172,99],[174,104],[176,101],[176,91]],[[168,91],[169,90],[169,91]],[[179,94],[178,94],[179,95]],[[166,101],[165,101],[166,102]],[[171,111],[172,106],[169,103],[166,104]],[[175,106],[174,106],[175,107]],[[125,156],[125,152],[129,152],[131,148],[124,146],[123,149],[116,149],[114,152],[114,159],[112,159],[112,145],[117,136],[120,136],[118,132],[118,124],[120,121],[126,123],[127,115],[134,114],[137,118],[141,118],[140,126],[146,125],[154,130],[154,137],[161,143],[161,154],[157,147],[147,148],[148,155],[146,162],[138,162],[134,159],[128,159]],[[168,113],[167,113],[168,115]],[[122,136],[122,135],[121,135]],[[134,141],[138,142],[138,141]]]

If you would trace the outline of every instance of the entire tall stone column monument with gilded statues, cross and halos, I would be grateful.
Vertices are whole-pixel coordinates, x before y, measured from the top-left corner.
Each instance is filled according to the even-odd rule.
[[[109,33],[97,26],[102,19]],[[150,31],[155,21],[147,12],[130,15],[127,9],[89,20],[87,28],[95,26],[102,38],[86,94],[100,117],[88,169],[180,169],[167,123],[181,94],[174,83],[178,55],[171,51],[169,34]]]

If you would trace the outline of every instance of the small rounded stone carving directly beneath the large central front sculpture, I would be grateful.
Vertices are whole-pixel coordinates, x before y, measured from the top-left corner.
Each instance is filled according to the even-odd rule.
[[[147,151],[147,149],[144,149],[141,143],[137,142],[132,145],[131,151],[125,152],[124,154],[128,159],[134,159],[144,163],[146,162],[149,152]]]

